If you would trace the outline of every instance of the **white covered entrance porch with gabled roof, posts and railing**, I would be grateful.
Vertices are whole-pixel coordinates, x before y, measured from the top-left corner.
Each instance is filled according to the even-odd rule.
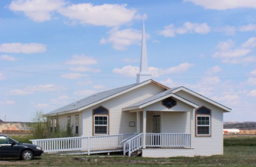
[[[126,151],[142,148],[142,155],[147,157],[163,151],[169,157],[182,156],[183,153],[193,156],[191,134],[195,133],[193,113],[196,108],[196,104],[173,93],[156,99],[151,97],[123,108],[124,112],[137,113],[138,135],[130,140],[131,148]]]

